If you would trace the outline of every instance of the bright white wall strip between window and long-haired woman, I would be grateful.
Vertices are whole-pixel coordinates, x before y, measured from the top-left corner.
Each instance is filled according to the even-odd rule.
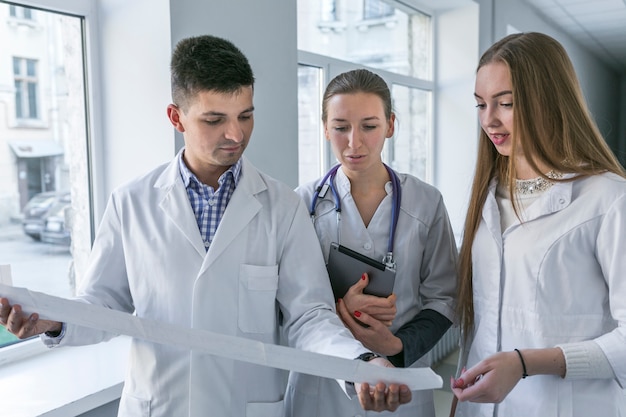
[[[437,15],[435,185],[460,241],[477,152],[474,72],[478,63],[476,3]]]

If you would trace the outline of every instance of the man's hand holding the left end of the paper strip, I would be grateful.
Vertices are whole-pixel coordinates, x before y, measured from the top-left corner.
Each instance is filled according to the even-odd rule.
[[[28,339],[44,332],[58,332],[63,323],[39,320],[39,314],[27,316],[19,304],[11,305],[6,298],[0,298],[0,325],[20,339]]]

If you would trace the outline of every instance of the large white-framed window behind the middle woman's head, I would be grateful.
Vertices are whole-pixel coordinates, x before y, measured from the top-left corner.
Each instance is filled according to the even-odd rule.
[[[368,68],[385,79],[397,116],[383,158],[393,168],[432,182],[433,89],[431,17],[393,1],[298,0],[299,183],[336,161],[323,140],[321,96],[341,72]],[[320,18],[322,17],[322,18]]]

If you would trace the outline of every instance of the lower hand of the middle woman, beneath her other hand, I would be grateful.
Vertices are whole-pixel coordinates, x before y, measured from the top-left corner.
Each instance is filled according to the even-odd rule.
[[[337,314],[355,339],[371,351],[385,356],[402,352],[403,346],[400,338],[394,336],[389,327],[381,321],[367,313],[348,310],[346,303],[341,300],[337,303]]]

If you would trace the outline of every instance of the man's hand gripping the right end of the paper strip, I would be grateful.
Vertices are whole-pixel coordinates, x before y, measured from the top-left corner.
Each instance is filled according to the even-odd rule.
[[[393,368],[393,365],[384,358],[372,359],[369,363]],[[387,386],[385,383],[379,382],[376,386],[370,387],[369,384],[363,383],[354,384],[354,388],[364,410],[395,411],[402,404],[411,401],[411,391],[404,384],[389,384]]]

